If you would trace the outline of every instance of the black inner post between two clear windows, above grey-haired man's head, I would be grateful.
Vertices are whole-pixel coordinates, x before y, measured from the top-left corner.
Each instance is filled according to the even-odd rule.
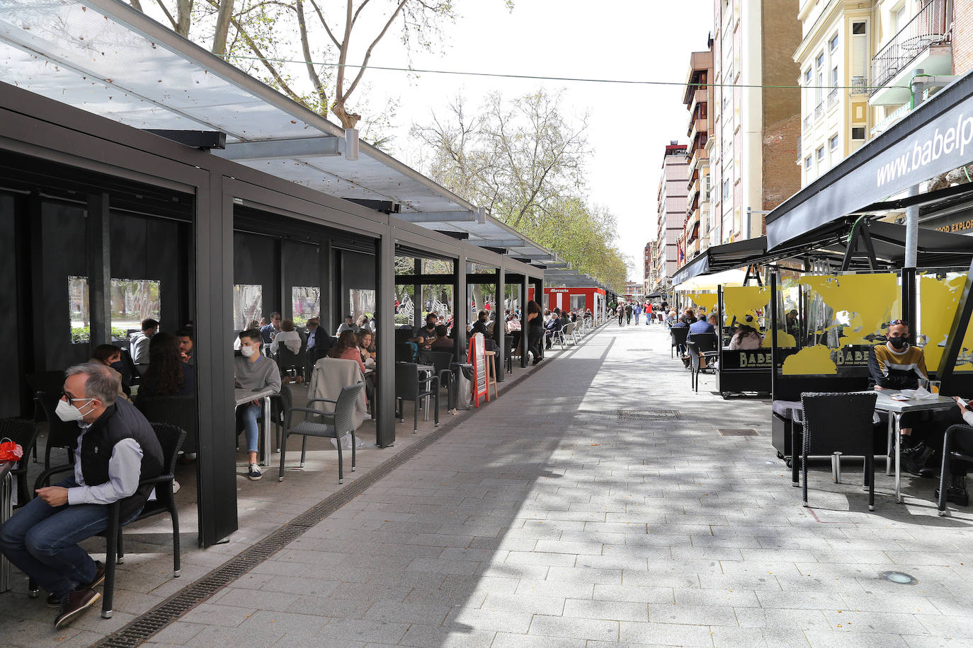
[[[108,193],[88,195],[88,310],[91,350],[112,341],[111,216]],[[172,323],[178,324],[178,323]]]

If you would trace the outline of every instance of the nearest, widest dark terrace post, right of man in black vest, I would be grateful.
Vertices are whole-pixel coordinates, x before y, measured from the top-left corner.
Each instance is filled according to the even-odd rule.
[[[234,205],[220,173],[199,188],[194,226],[198,403],[199,544],[208,547],[237,529],[233,320]]]

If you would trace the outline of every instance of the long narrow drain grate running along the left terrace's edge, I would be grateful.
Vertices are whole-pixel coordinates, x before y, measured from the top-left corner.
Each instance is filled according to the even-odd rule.
[[[530,374],[525,374],[524,377],[527,375]],[[307,529],[310,529],[327,518],[356,496],[361,495],[367,488],[388,475],[392,470],[412,459],[432,443],[441,439],[447,432],[466,418],[466,416],[459,417],[450,424],[442,426],[427,436],[422,437],[395,457],[385,460],[365,476],[356,479],[337,493],[322,499],[291,522],[270,533],[270,535],[257,544],[243,550],[234,558],[216,567],[171,597],[163,600],[156,607],[130,621],[120,631],[108,635],[101,641],[95,643],[94,646],[98,648],[133,648],[134,646],[141,645],[156,632],[162,631],[163,628],[198,605],[198,603],[212,597],[229,583],[283,549],[292,540],[301,536]]]

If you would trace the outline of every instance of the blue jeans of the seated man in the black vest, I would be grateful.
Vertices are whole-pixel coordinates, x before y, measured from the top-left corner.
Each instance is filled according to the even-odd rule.
[[[56,486],[78,484],[70,477]],[[94,580],[94,561],[78,543],[107,527],[104,504],[51,506],[35,497],[0,527],[0,552],[47,592],[64,597]]]

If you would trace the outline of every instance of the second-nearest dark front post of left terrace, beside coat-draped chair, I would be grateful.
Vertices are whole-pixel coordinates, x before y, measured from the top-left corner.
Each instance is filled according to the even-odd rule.
[[[391,228],[376,241],[376,329],[378,332],[378,403],[376,442],[379,448],[395,443],[395,241]]]

